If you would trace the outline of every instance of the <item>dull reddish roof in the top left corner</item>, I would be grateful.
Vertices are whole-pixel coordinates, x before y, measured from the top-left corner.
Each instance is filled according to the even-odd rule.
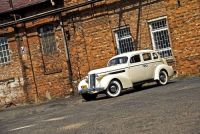
[[[10,7],[9,0],[0,0],[0,13],[35,5],[48,0],[12,0],[13,9]]]

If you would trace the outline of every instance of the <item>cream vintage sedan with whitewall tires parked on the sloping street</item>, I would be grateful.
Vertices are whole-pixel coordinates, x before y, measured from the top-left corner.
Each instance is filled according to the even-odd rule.
[[[117,97],[123,89],[140,88],[147,82],[166,85],[173,75],[172,66],[157,52],[133,51],[112,57],[105,68],[90,71],[79,83],[78,91],[87,101],[95,99],[99,93]]]

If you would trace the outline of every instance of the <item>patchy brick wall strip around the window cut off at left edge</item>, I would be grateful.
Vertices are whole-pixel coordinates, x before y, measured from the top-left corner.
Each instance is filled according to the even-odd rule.
[[[25,96],[23,91],[24,79],[18,53],[18,44],[13,37],[13,28],[0,30],[1,37],[7,37],[9,50],[11,53],[11,62],[0,65],[0,106],[24,102]]]

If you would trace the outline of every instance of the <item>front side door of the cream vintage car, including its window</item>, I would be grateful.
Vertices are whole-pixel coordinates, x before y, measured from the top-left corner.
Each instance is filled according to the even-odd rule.
[[[131,56],[129,61],[129,77],[133,83],[143,81],[145,79],[145,67],[143,66],[141,55]]]

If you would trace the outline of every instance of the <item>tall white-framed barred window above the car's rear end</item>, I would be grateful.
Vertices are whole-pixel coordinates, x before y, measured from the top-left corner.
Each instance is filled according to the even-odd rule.
[[[162,17],[149,21],[149,27],[154,49],[160,54],[161,57],[172,58],[167,18]]]

